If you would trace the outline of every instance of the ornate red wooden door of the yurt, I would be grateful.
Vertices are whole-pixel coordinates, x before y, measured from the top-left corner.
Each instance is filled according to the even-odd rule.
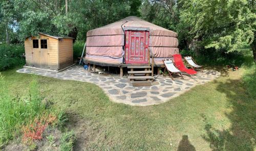
[[[125,31],[125,63],[147,64],[150,32]]]

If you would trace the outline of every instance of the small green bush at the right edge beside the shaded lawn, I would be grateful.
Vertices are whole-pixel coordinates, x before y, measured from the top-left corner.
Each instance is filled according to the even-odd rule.
[[[249,95],[256,99],[256,64],[249,67],[243,75],[243,82]]]

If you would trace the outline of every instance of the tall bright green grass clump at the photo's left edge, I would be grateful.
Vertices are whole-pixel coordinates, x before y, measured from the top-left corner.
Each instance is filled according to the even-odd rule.
[[[45,110],[38,84],[34,79],[29,85],[29,95],[12,96],[0,74],[0,146],[20,133],[23,125],[31,122]]]

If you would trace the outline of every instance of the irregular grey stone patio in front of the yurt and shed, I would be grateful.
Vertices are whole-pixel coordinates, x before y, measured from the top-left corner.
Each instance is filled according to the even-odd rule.
[[[148,106],[167,102],[171,98],[179,96],[196,85],[204,84],[219,77],[220,72],[214,70],[203,70],[197,75],[183,74],[184,79],[176,76],[173,81],[162,75],[156,78],[156,85],[148,87],[133,87],[127,78],[118,75],[101,75],[90,73],[82,66],[73,66],[65,71],[51,72],[37,69],[22,68],[19,73],[33,73],[46,77],[62,80],[76,80],[90,82],[101,87],[113,102],[133,106]]]

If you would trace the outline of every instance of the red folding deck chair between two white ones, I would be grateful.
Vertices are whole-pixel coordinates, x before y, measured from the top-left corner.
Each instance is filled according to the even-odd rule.
[[[175,66],[180,70],[180,71],[183,71],[183,72],[186,72],[187,74],[196,74],[197,71],[195,71],[194,69],[188,69],[184,63],[182,62],[182,58],[181,58],[181,55],[180,54],[175,54],[173,55],[174,57],[174,64]]]

